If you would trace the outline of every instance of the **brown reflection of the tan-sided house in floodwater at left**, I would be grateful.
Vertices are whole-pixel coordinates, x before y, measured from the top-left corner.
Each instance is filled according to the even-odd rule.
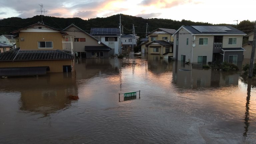
[[[20,110],[42,113],[44,116],[67,108],[68,95],[77,96],[77,85],[72,74],[51,73],[40,78],[3,79],[2,90],[18,91]]]

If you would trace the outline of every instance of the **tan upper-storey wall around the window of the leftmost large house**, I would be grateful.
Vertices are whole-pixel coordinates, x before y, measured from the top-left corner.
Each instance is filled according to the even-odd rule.
[[[52,41],[53,48],[38,48],[39,41]],[[17,47],[21,50],[62,50],[62,35],[58,32],[20,32]]]

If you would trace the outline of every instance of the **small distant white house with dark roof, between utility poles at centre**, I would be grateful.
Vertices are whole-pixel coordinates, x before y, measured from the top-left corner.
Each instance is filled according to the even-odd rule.
[[[127,50],[128,48],[136,47],[137,41],[140,37],[133,36],[132,34],[127,34],[122,36],[122,47],[123,50]]]

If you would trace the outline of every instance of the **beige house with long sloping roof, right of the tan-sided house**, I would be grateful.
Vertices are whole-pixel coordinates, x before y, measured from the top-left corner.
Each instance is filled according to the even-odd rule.
[[[86,58],[110,57],[110,47],[100,42],[98,39],[94,38],[76,25],[71,24],[63,31],[72,36],[73,48],[76,56]]]

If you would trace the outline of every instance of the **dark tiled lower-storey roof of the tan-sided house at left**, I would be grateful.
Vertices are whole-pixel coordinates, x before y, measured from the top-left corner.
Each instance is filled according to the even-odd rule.
[[[0,53],[0,61],[59,60],[73,58],[71,54],[61,50],[20,50],[20,48],[15,48]]]

